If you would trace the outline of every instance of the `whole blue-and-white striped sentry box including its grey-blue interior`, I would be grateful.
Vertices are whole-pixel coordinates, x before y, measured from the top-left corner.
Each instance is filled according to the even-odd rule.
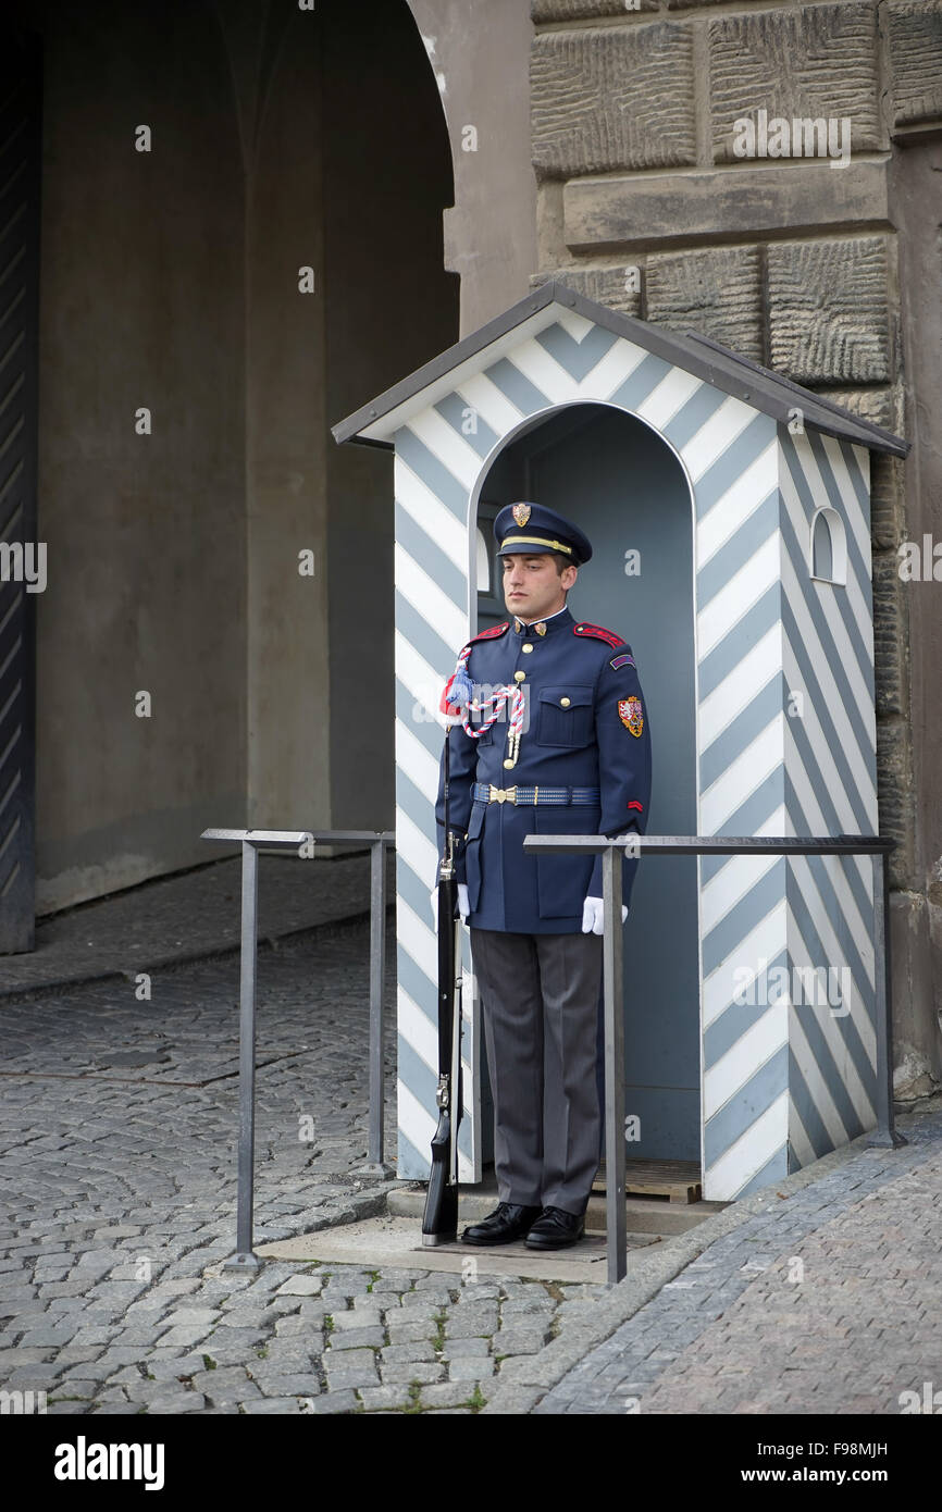
[[[334,428],[395,448],[399,1164],[435,1110],[442,688],[507,617],[491,522],[582,526],[576,618],[629,641],[650,835],[877,833],[869,452],[900,437],[706,337],[549,281]],[[643,859],[624,925],[629,1155],[729,1201],[874,1128],[868,856]],[[490,1158],[466,939],[461,1179]]]

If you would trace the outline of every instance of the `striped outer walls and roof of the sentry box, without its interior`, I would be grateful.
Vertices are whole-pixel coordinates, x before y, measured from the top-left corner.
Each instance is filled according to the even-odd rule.
[[[402,1178],[428,1176],[437,1120],[437,708],[473,631],[478,494],[526,422],[587,401],[644,420],[689,484],[699,833],[877,832],[869,451],[904,455],[898,437],[714,343],[561,284],[334,428],[337,440],[395,446]],[[833,581],[812,572],[821,511]],[[872,906],[868,857],[700,859],[705,1198],[744,1196],[874,1126]],[[765,963],[751,1005],[744,960]],[[460,1149],[461,1176],[475,1181],[479,1024],[467,942],[464,963]],[[830,1007],[815,1012],[795,984],[812,1001],[830,990]]]

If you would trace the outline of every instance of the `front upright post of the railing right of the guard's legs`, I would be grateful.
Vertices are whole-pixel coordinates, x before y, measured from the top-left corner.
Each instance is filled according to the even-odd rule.
[[[624,1278],[624,998],[621,974],[621,848],[602,851],[603,990],[605,990],[605,1228],[608,1282]]]

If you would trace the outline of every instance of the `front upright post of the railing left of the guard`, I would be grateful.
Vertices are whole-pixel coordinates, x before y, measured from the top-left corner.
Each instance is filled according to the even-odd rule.
[[[236,1253],[224,1270],[259,1270],[253,1253],[256,1164],[256,957],[259,936],[259,853],[242,841],[242,953],[239,968],[239,1216]]]

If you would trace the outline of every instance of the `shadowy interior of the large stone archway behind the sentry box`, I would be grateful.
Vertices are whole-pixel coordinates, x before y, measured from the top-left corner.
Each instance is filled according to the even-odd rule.
[[[8,0],[0,44],[0,496],[50,559],[0,585],[2,953],[204,827],[392,826],[393,463],[330,426],[460,280],[407,0]]]

